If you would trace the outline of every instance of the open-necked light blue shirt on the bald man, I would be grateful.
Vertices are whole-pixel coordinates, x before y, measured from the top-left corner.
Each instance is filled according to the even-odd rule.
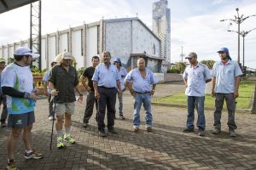
[[[143,78],[138,68],[132,69],[125,77],[126,82],[132,82],[132,89],[139,93],[150,92],[150,84],[156,84],[158,80],[152,71],[146,68],[146,77]]]

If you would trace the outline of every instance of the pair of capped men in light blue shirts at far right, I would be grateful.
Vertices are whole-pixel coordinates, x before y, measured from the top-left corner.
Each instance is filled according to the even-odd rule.
[[[206,83],[212,81],[212,97],[215,97],[214,129],[213,133],[221,132],[221,114],[226,101],[228,109],[228,127],[231,137],[236,137],[236,98],[239,96],[238,88],[240,84],[241,68],[236,61],[230,57],[228,48],[218,50],[220,61],[213,65],[212,73],[207,65],[197,61],[197,54],[191,52],[186,59],[189,65],[183,72],[183,82],[186,85],[185,94],[188,96],[188,117],[187,126],[183,133],[194,132],[195,108],[198,113],[196,126],[198,135],[204,136],[206,120],[204,114],[204,102]]]

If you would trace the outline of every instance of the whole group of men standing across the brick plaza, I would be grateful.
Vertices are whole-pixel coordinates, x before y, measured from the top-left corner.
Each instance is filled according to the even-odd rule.
[[[197,55],[190,53],[189,66],[183,73],[188,96],[188,120],[184,133],[194,131],[194,110],[198,111],[197,127],[199,135],[204,135],[206,127],[204,116],[204,100],[206,82],[212,80],[212,96],[215,96],[214,133],[220,133],[221,110],[226,100],[230,127],[230,136],[236,136],[235,108],[238,97],[239,65],[230,58],[227,48],[218,51],[221,61],[217,62],[212,69],[212,75],[206,65],[197,61]],[[83,101],[83,94],[79,89],[79,77],[76,69],[72,66],[73,57],[69,53],[60,54],[60,61],[51,64],[52,69],[45,77],[44,94],[49,96],[49,120],[55,122],[57,133],[57,148],[65,146],[64,141],[74,144],[75,139],[71,135],[71,116],[74,114],[76,95],[79,101]],[[7,97],[8,127],[11,131],[8,139],[8,169],[18,169],[15,166],[15,146],[20,133],[23,131],[23,141],[26,147],[26,159],[40,159],[43,154],[32,148],[32,124],[35,122],[34,106],[37,101],[38,89],[33,87],[32,72],[30,65],[33,59],[38,58],[31,49],[20,47],[15,50],[15,62],[6,66],[1,74],[2,93]],[[92,66],[87,68],[80,81],[88,91],[86,107],[84,111],[84,127],[88,126],[96,105],[96,122],[99,135],[106,137],[108,133],[117,133],[114,128],[116,95],[119,99],[119,118],[125,119],[123,114],[122,94],[127,87],[134,99],[133,130],[137,132],[140,127],[140,109],[143,105],[145,110],[145,125],[148,132],[152,131],[153,116],[151,112],[151,96],[154,95],[157,79],[152,71],[145,66],[143,58],[137,59],[137,68],[128,74],[119,58],[110,62],[111,54],[108,51],[102,53],[100,59],[93,56]],[[1,63],[1,62],[0,62]],[[88,83],[85,83],[88,82]],[[54,105],[54,106],[53,106]],[[105,113],[107,109],[108,132],[105,131]],[[62,131],[64,122],[65,132]],[[64,133],[64,134],[63,134]]]

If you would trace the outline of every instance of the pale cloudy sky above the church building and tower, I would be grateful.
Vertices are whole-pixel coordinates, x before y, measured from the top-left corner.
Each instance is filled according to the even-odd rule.
[[[42,0],[42,35],[81,26],[84,23],[114,18],[136,17],[152,29],[152,3],[157,0]],[[229,48],[237,60],[236,8],[244,17],[256,14],[255,0],[169,0],[171,8],[171,62],[195,52],[198,60],[218,60],[219,48]],[[0,44],[28,39],[30,5],[0,14]],[[241,31],[256,28],[256,16],[241,23]],[[242,37],[240,45],[242,62]],[[185,59],[183,59],[184,61]],[[256,68],[256,30],[245,37],[245,65]]]

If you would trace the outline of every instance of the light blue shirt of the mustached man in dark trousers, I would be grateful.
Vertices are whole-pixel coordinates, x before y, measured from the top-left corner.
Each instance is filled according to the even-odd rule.
[[[117,88],[116,81],[119,80],[119,71],[116,66],[109,64],[109,68],[102,63],[96,66],[95,72],[91,80],[98,82],[98,86],[105,88]]]

